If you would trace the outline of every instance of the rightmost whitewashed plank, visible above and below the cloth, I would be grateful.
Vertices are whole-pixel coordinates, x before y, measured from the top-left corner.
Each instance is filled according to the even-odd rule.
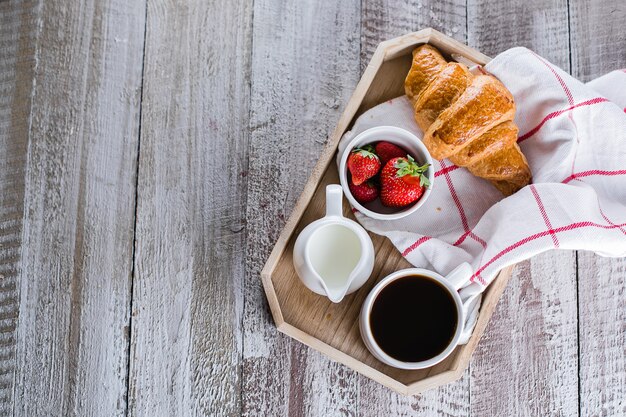
[[[570,0],[572,73],[626,68],[626,4]],[[580,416],[626,415],[626,259],[578,252]]]

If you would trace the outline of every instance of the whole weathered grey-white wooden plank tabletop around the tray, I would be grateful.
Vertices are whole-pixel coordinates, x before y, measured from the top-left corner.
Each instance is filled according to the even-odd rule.
[[[430,26],[587,81],[626,67],[625,22],[623,0],[0,1],[0,414],[626,415],[625,259],[519,264],[463,378],[417,397],[279,334],[259,279],[378,42]]]

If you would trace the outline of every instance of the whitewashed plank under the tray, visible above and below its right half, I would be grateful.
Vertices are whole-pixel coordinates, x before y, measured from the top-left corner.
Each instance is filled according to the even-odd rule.
[[[365,68],[379,42],[425,27],[433,27],[466,41],[465,0],[363,2],[361,68]],[[464,416],[469,415],[469,372],[459,381],[416,397],[399,395],[359,376],[358,415]]]

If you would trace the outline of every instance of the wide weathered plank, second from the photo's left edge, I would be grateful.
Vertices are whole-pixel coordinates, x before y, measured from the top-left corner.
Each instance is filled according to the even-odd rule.
[[[17,82],[33,87],[14,96],[15,159],[2,166],[24,201],[13,414],[124,415],[144,6],[8,7],[19,10]],[[13,297],[2,297],[9,323]]]

